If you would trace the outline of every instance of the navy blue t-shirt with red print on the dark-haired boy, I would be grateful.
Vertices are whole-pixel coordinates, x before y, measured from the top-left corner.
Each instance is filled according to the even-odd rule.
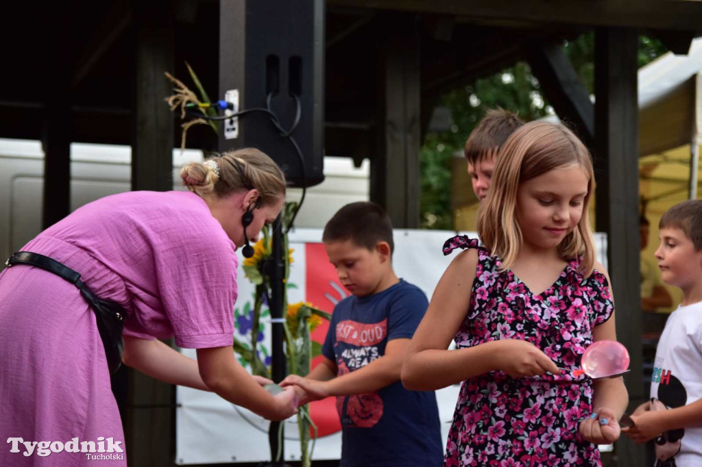
[[[385,355],[392,339],[409,339],[427,310],[424,292],[400,280],[383,292],[347,297],[334,307],[322,354],[338,375]],[[408,391],[402,381],[376,393],[336,398],[342,426],[340,467],[443,466],[434,391]]]

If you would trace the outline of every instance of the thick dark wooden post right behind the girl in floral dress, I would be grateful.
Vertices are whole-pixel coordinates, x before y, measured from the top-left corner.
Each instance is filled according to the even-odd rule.
[[[640,252],[637,232],[639,144],[637,39],[634,29],[595,33],[595,177],[597,231],[606,231],[611,288],[616,301],[617,338],[631,356],[624,378],[630,410],[643,402]],[[644,449],[622,437],[617,466],[645,465]]]

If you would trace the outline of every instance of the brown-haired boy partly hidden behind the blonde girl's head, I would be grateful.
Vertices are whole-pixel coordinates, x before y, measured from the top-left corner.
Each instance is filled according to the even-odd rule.
[[[478,201],[482,202],[487,196],[500,148],[522,125],[524,121],[517,114],[499,108],[490,109],[470,133],[463,154],[468,161],[468,175]]]

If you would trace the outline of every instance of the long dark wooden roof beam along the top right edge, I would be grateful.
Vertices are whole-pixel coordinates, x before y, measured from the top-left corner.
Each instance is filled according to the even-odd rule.
[[[329,0],[346,6],[471,18],[475,22],[519,21],[536,24],[643,27],[700,31],[702,3],[669,0]]]

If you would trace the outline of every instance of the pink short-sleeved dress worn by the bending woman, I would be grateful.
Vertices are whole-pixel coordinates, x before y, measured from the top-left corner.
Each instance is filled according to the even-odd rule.
[[[183,348],[232,345],[235,247],[195,194],[108,196],[22,250],[62,262],[99,297],[122,304],[126,335],[175,337]],[[0,273],[0,466],[91,465],[96,460],[80,452],[44,449],[40,456],[41,445],[25,456],[21,442],[13,449],[6,440],[65,445],[79,438],[98,445],[99,437],[122,442],[126,452],[95,314],[77,287],[53,273],[6,268]],[[126,466],[126,454],[116,456],[121,459],[98,462]]]

